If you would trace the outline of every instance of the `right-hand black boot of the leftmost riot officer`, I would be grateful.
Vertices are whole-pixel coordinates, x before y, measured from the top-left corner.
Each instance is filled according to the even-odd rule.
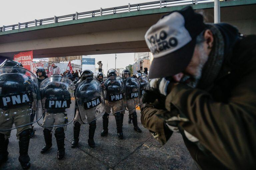
[[[19,161],[23,169],[30,167],[30,158],[28,156],[28,146],[30,140],[30,129],[23,130],[19,135],[20,156]]]

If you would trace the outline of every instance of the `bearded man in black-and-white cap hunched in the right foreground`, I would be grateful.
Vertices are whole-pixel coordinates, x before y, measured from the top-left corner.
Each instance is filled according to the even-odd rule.
[[[256,36],[206,24],[186,7],[162,17],[145,40],[154,60],[142,125],[162,144],[180,132],[191,170],[255,169]]]

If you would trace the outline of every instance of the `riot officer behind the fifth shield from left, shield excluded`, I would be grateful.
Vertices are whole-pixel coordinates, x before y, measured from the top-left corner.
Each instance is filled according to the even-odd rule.
[[[140,74],[140,73],[137,73],[137,74]],[[122,72],[122,77],[123,77],[123,79],[124,79],[125,81],[127,81],[127,79],[128,79],[129,77],[131,77],[131,72],[130,72],[130,70],[128,70],[128,69],[123,70],[123,72]],[[127,87],[127,88],[132,88],[132,87]],[[128,104],[129,104],[129,105],[134,105],[134,103],[136,103],[135,100],[128,100],[128,101],[127,101],[127,105],[128,105]],[[135,105],[136,105],[136,104],[135,104]],[[124,114],[124,113],[125,113],[125,110],[122,111],[121,113]],[[132,121],[132,123],[133,123],[133,126],[134,126],[133,128],[134,128],[134,130],[137,131],[137,132],[141,132],[141,129],[138,127],[137,113],[136,113],[135,108],[129,111],[128,123],[130,124],[131,121]]]

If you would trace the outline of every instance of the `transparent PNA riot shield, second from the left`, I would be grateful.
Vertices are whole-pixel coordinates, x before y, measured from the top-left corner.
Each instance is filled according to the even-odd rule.
[[[70,79],[62,76],[49,77],[41,82],[43,117],[37,122],[41,127],[65,127],[74,120],[74,86]]]

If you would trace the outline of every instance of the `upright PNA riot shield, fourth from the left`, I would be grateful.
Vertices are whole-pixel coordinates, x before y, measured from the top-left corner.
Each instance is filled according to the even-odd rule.
[[[119,76],[109,77],[104,83],[106,113],[112,114],[125,110],[125,81]]]

